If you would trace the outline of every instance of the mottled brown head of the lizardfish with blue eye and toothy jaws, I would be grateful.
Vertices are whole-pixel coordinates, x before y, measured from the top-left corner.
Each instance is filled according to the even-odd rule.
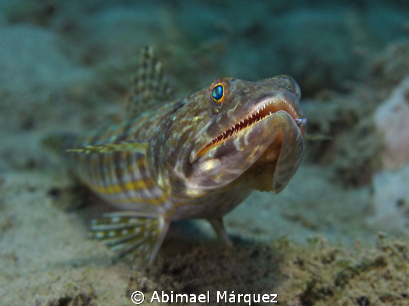
[[[304,154],[300,95],[286,75],[258,82],[215,80],[185,98],[168,121],[162,137],[177,139],[162,147],[168,152],[158,162],[168,168],[161,172],[156,166],[158,176],[167,176],[179,197],[217,191],[246,174],[264,174],[269,181],[252,188],[281,191]]]

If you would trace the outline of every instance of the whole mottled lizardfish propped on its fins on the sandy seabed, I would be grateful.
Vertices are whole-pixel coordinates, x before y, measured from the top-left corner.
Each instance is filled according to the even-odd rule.
[[[152,48],[144,48],[122,124],[46,143],[75,177],[120,209],[89,237],[152,263],[172,221],[205,218],[227,244],[222,217],[253,190],[280,192],[304,154],[300,87],[287,75],[220,78],[174,100]]]

